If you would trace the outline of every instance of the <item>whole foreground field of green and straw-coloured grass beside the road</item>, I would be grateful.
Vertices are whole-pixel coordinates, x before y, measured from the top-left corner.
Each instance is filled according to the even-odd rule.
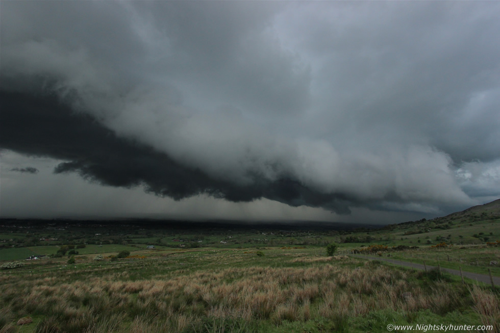
[[[261,254],[261,255],[259,255]],[[0,274],[0,324],[22,332],[382,332],[389,323],[500,328],[498,291],[321,248],[140,250]],[[417,330],[418,331],[418,330]]]

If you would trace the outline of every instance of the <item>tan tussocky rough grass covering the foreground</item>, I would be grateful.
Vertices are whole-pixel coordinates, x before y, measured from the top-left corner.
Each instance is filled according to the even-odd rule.
[[[241,257],[224,258],[237,263]],[[171,269],[142,279],[132,276],[154,261],[121,272],[103,266],[29,279],[0,275],[0,324],[8,332],[31,315],[43,318],[37,332],[258,331],[285,323],[347,332],[353,318],[375,313],[401,313],[414,322],[424,310],[445,316],[473,309],[484,324],[500,327],[497,295],[476,286],[343,256],[280,258],[289,266],[257,258],[246,267]]]

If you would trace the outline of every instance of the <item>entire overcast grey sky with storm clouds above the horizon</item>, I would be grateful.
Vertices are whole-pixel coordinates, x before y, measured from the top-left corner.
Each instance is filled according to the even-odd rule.
[[[500,2],[0,7],[3,217],[395,223],[500,197]]]

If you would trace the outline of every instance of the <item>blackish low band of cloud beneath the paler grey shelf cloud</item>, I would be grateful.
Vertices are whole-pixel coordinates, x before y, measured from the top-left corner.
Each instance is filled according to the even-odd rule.
[[[67,161],[57,165],[55,173],[77,172],[88,181],[108,186],[143,186],[146,192],[177,200],[198,194],[235,202],[266,197],[291,206],[349,212],[347,201],[286,177],[269,182],[254,175],[249,186],[214,180],[199,169],[172,161],[165,153],[117,137],[87,114],[72,112],[55,96],[0,96],[2,148]]]

